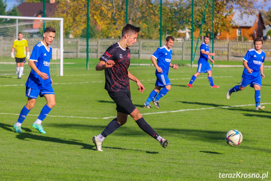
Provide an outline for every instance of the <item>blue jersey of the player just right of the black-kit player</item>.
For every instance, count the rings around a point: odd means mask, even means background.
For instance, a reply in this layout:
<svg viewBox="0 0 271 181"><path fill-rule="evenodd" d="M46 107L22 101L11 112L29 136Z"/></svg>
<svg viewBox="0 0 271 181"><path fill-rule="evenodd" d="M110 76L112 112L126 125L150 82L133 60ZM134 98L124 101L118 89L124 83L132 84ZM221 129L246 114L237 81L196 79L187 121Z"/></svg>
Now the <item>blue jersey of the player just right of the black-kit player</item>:
<svg viewBox="0 0 271 181"><path fill-rule="evenodd" d="M157 50L153 53L155 59L157 59L157 65L163 70L163 74L168 75L169 65L171 62L171 56L172 56L172 50L167 49L164 46L157 48ZM155 75L157 75L159 72L156 70Z"/></svg>

